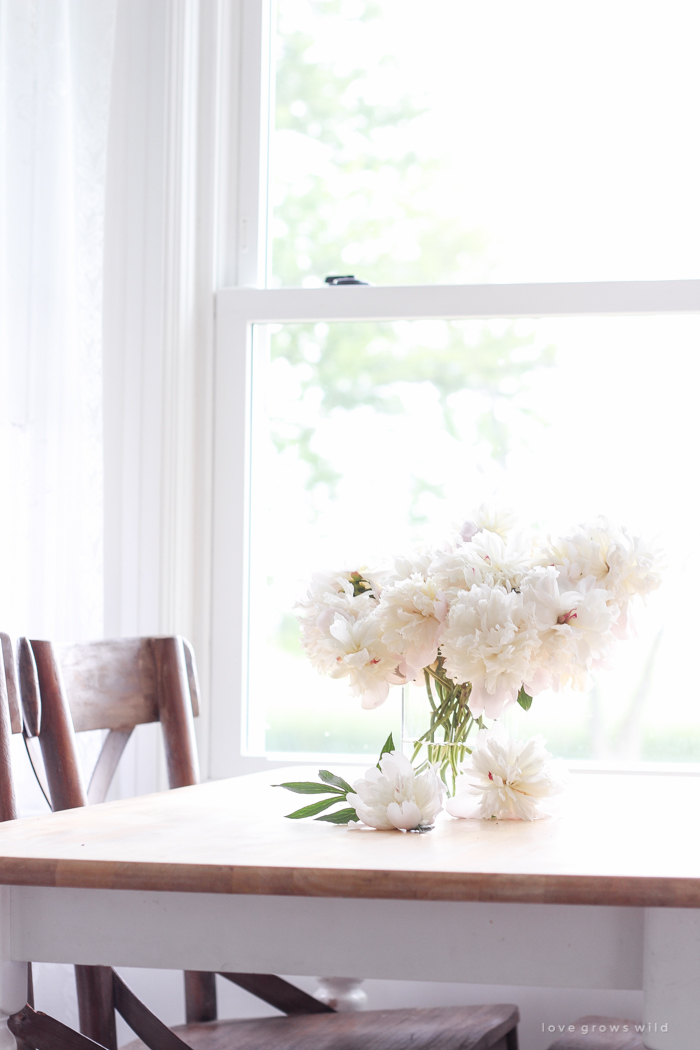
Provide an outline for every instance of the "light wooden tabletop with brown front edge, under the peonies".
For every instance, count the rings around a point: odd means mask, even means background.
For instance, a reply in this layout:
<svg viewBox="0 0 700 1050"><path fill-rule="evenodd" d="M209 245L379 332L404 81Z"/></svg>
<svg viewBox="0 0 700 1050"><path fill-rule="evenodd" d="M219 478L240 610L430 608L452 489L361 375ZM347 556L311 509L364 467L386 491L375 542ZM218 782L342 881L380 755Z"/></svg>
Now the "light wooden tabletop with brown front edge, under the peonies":
<svg viewBox="0 0 700 1050"><path fill-rule="evenodd" d="M412 835L285 820L304 797L270 784L315 773L295 766L0 824L0 883L700 907L700 777L575 774L554 817L442 814Z"/></svg>

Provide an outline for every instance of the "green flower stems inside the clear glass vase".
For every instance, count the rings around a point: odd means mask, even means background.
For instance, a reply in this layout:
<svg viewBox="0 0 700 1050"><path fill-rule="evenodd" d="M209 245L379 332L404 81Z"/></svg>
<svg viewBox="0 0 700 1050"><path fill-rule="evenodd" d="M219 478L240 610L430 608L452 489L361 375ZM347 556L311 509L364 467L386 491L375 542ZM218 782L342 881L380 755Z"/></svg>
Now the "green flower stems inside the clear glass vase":
<svg viewBox="0 0 700 1050"><path fill-rule="evenodd" d="M411 762L422 757L418 772L436 765L445 784L449 775L453 794L460 766L466 755L471 754L467 738L474 726L482 729L483 723L481 718L474 719L469 711L471 685L458 685L447 678L442 657L426 667L424 675L428 728L412 737Z"/></svg>

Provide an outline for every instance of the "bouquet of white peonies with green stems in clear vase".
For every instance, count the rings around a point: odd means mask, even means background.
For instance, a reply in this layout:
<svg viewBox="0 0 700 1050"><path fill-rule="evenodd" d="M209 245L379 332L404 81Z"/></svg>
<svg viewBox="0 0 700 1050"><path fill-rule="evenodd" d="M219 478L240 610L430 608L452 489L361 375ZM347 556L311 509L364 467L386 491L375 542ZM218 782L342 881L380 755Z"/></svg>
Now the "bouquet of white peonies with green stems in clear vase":
<svg viewBox="0 0 700 1050"><path fill-rule="evenodd" d="M363 707L424 682L429 727L412 760L425 747L419 772L434 764L453 786L485 718L528 710L546 689L587 688L660 569L653 548L604 519L538 539L482 507L440 549L391 569L315 574L296 612L314 667L346 677Z"/></svg>

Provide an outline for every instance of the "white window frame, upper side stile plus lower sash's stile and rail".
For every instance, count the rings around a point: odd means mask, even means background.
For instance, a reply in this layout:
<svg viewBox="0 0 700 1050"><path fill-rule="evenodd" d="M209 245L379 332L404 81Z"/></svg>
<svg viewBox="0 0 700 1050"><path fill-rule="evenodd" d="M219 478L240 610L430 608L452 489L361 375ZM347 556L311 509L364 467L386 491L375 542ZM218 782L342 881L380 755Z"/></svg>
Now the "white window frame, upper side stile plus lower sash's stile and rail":
<svg viewBox="0 0 700 1050"><path fill-rule="evenodd" d="M270 0L242 0L241 13L237 284L222 287L216 295L211 640L214 702L210 736L211 775L215 777L270 764L264 756L247 755L254 324L700 313L700 280L266 288ZM300 756L299 761L309 757ZM601 763L581 764L601 768ZM644 763L645 768L651 765ZM690 769L681 763L654 768L667 772Z"/></svg>

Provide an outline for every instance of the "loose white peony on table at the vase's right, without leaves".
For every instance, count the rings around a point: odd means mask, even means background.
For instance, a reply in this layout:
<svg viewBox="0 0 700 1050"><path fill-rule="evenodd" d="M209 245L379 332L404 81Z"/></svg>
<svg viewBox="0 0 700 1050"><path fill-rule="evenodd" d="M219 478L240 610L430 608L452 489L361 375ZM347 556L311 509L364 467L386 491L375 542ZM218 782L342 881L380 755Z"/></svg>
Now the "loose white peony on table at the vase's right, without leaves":
<svg viewBox="0 0 700 1050"><path fill-rule="evenodd" d="M564 786L564 770L551 759L542 736L516 740L503 729L482 730L446 810L453 817L532 820L542 800Z"/></svg>

